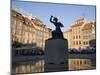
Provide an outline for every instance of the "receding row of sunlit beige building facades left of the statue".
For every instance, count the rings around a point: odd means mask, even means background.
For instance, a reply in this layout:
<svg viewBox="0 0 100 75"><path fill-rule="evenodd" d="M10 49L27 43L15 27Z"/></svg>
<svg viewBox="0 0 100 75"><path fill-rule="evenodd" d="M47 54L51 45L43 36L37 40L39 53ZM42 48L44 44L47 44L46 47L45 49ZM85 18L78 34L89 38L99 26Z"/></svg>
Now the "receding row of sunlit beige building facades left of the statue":
<svg viewBox="0 0 100 75"><path fill-rule="evenodd" d="M14 9L11 13L12 42L34 44L44 48L45 40L51 37L51 29L36 17L22 15Z"/></svg>

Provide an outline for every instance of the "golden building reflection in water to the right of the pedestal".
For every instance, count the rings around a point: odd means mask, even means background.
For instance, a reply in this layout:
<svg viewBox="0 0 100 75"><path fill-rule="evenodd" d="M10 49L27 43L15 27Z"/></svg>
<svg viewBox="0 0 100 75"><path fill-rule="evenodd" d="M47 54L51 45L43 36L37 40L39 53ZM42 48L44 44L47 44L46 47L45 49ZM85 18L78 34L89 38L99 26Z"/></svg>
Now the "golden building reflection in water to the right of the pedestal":
<svg viewBox="0 0 100 75"><path fill-rule="evenodd" d="M90 59L69 59L69 70L86 70L91 68Z"/></svg>

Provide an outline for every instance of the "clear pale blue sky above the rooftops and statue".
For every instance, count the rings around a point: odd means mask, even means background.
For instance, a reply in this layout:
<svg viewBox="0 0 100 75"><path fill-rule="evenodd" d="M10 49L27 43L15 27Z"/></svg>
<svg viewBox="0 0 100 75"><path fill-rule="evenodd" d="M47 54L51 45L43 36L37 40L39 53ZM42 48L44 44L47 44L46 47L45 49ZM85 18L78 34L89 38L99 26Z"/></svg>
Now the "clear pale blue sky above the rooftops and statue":
<svg viewBox="0 0 100 75"><path fill-rule="evenodd" d="M90 5L73 5L58 3L41 3L32 1L12 1L12 9L17 8L24 15L32 14L43 21L51 29L55 26L50 23L50 16L55 16L64 25L62 31L67 31L73 25L75 20L85 17L86 20L96 19L96 7Z"/></svg>

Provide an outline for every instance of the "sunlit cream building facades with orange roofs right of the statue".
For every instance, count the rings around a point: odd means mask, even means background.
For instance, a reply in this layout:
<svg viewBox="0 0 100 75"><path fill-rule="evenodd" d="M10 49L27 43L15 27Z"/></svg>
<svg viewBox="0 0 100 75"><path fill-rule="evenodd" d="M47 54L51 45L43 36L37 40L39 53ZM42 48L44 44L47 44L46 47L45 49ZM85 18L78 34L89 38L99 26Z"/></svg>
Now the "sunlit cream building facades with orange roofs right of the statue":
<svg viewBox="0 0 100 75"><path fill-rule="evenodd" d="M96 39L96 23L95 21L87 22L84 18L80 18L69 30L64 32L64 36L68 39L70 49L86 48L90 46L90 40Z"/></svg>

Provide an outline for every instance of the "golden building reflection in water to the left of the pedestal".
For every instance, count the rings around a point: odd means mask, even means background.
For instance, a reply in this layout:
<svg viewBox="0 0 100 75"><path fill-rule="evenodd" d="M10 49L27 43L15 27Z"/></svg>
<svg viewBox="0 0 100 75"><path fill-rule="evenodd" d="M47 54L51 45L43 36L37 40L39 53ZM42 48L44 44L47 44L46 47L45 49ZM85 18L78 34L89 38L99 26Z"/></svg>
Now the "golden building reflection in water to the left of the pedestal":
<svg viewBox="0 0 100 75"><path fill-rule="evenodd" d="M36 73L44 72L44 60L39 60L36 63L28 63L15 67L16 73Z"/></svg>

